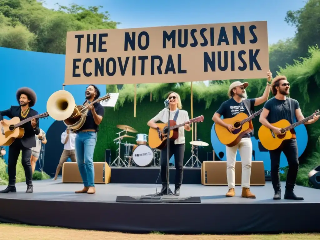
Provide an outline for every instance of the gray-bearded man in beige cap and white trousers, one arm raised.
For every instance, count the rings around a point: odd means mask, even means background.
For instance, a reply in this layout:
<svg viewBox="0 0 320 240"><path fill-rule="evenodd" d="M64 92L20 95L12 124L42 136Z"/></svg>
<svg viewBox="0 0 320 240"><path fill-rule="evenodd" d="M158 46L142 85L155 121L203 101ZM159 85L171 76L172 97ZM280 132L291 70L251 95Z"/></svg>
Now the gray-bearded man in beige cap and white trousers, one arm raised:
<svg viewBox="0 0 320 240"><path fill-rule="evenodd" d="M229 100L223 102L220 108L214 113L212 120L216 124L220 124L226 127L230 132L235 130L235 127L231 124L225 124L221 120L221 116L224 118L231 118L239 113L245 113L250 116L254 113L254 107L258 106L268 100L270 88L271 88L272 73L267 73L267 86L263 95L259 98L247 99L247 93L245 88L248 87L248 83L241 83L239 81L233 82L229 86L228 96ZM242 164L242 197L256 198L250 191L250 177L251 177L251 163L252 163L252 141L251 137L254 136L253 130L250 133L244 134L240 142L233 146L226 146L227 157L227 180L228 180L228 193L227 197L235 196L235 165L236 154L239 149Z"/></svg>

